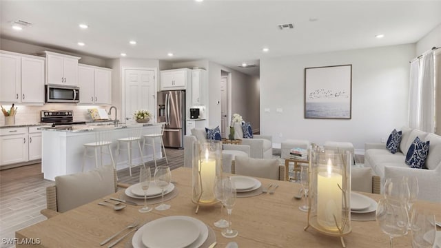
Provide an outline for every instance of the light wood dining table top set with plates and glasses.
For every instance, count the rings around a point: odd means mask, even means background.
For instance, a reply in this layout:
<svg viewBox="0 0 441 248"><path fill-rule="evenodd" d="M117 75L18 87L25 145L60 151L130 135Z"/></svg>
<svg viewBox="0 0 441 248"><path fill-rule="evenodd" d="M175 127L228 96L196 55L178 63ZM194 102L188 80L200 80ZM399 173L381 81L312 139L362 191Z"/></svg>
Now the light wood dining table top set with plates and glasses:
<svg viewBox="0 0 441 248"><path fill-rule="evenodd" d="M76 207L63 214L54 216L41 223L16 231L18 240L39 240L39 245L18 244L17 247L100 247L99 243L112 236L134 220L143 222L155 220L164 216L191 216L201 220L211 227L216 234L216 247L225 247L234 241L239 247L342 247L340 238L320 234L307 225L307 213L298 207L304 204L296 200L300 185L286 181L257 178L263 186L277 184L274 194L237 198L232 211L232 228L238 230L236 238L224 238L222 229L214 227L214 222L220 219L220 203L200 207L195 213L196 205L192 203L192 169L180 167L172 171L172 180L178 189L178 195L167 204L170 209L141 214L141 206L127 205L121 211L111 207L103 207L97 203L105 198L119 197L123 190L94 200L91 203ZM362 193L374 200L382 196ZM418 201L422 206L435 213L441 220L441 203ZM227 218L226 211L224 217ZM376 221L351 221L352 231L345 236L347 247L388 247L389 237L382 233ZM439 228L438 228L439 230ZM173 234L170 234L173 238ZM119 242L115 247L130 246L132 234ZM410 234L394 238L396 247L411 247ZM105 246L103 246L105 247Z"/></svg>

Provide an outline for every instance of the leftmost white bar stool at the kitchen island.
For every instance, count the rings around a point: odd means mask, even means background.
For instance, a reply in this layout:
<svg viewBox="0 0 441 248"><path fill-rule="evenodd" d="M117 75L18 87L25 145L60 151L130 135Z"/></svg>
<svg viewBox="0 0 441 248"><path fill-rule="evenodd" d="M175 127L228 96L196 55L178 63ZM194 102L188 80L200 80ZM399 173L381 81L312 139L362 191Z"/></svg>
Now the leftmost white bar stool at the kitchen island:
<svg viewBox="0 0 441 248"><path fill-rule="evenodd" d="M116 169L115 161L113 159L112 155L112 149L110 146L112 145L112 133L109 130L101 130L101 131L95 131L95 142L92 143L85 143L84 146L84 153L83 153L83 165L81 166L81 172L84 172L84 165L85 165L85 158L86 157L95 157L95 167L98 168L98 150L100 154L100 165L103 166L103 154L110 155L110 160L112 160L112 165ZM106 153L103 151L103 147L107 147L107 150L109 151ZM92 148L94 149L93 154L88 154L88 149Z"/></svg>

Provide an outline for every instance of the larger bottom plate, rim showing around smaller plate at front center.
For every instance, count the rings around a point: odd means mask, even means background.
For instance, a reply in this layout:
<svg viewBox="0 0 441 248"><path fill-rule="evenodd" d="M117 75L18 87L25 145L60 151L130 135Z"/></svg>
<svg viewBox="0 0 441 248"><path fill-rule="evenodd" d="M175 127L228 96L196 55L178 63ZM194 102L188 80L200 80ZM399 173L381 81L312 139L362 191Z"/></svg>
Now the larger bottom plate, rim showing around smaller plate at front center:
<svg viewBox="0 0 441 248"><path fill-rule="evenodd" d="M208 227L201 220L198 220L196 218L192 218L192 217L189 217L189 216L168 216L168 217L163 217L163 218L174 218L174 219L191 220L192 222L194 222L198 226L199 232L200 232L198 238L196 239L196 241L194 241L191 245L187 246L186 248L198 248L201 245L203 245L205 240L207 240L207 238L208 238ZM146 225L148 225L148 224L149 223L147 223ZM133 235L133 238L132 238L132 246L133 246L133 248L146 248L145 245L143 244L143 240L142 240L143 232L144 232L144 230L146 228L145 227L146 225L143 225L143 227L141 227ZM170 234L169 234L169 237L170 237Z"/></svg>

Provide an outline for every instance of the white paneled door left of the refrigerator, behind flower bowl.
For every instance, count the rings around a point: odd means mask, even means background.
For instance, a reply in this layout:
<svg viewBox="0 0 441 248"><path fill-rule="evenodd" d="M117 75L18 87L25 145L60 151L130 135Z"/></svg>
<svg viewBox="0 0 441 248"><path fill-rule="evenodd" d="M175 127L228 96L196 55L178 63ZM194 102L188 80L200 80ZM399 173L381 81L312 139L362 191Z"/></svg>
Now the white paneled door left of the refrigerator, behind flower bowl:
<svg viewBox="0 0 441 248"><path fill-rule="evenodd" d="M154 70L125 70L125 120L133 119L136 110L148 110L153 120L156 109Z"/></svg>

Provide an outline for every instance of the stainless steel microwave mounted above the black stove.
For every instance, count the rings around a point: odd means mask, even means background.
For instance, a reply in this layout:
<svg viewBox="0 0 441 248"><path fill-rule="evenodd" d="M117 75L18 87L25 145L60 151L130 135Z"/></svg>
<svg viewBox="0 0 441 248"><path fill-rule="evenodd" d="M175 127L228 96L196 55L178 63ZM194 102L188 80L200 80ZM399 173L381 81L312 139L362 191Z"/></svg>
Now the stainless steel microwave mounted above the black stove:
<svg viewBox="0 0 441 248"><path fill-rule="evenodd" d="M45 86L46 103L79 103L80 87L73 85L51 85Z"/></svg>

